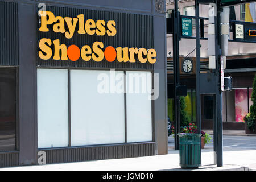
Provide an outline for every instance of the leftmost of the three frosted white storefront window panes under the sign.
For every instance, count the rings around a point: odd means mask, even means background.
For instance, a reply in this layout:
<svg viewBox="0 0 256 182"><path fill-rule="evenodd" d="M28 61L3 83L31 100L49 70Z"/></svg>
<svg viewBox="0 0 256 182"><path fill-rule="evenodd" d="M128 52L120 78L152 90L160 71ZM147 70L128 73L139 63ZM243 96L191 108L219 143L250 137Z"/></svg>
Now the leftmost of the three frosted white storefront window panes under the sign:
<svg viewBox="0 0 256 182"><path fill-rule="evenodd" d="M38 69L38 148L68 146L68 70Z"/></svg>

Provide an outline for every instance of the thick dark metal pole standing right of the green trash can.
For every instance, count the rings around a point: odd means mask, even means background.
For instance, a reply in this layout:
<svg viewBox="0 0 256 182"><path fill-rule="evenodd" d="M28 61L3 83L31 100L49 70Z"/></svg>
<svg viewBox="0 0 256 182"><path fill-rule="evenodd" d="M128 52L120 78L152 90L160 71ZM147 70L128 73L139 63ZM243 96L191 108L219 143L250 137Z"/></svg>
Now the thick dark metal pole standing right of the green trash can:
<svg viewBox="0 0 256 182"><path fill-rule="evenodd" d="M216 163L217 167L223 166L223 141L222 141L222 91L221 91L221 63L220 63L220 55L221 55L221 47L220 47L220 0L216 0L217 6L217 16L215 20L215 51L216 51L216 123L214 123L214 146L216 150Z"/></svg>

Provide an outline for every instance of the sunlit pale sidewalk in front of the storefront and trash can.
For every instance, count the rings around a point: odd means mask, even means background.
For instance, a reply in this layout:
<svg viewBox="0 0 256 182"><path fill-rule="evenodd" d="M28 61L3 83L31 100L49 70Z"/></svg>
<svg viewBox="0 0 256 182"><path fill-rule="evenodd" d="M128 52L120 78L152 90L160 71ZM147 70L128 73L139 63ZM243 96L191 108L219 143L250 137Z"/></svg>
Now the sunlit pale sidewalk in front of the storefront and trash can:
<svg viewBox="0 0 256 182"><path fill-rule="evenodd" d="M224 166L213 165L213 151L202 150L202 166L195 171L256 171L256 150L224 151ZM146 156L141 158L95 160L64 164L47 164L41 166L23 166L1 168L0 170L32 171L180 171L179 151L170 150L167 155ZM188 170L188 169L187 169ZM191 169L189 169L191 170Z"/></svg>

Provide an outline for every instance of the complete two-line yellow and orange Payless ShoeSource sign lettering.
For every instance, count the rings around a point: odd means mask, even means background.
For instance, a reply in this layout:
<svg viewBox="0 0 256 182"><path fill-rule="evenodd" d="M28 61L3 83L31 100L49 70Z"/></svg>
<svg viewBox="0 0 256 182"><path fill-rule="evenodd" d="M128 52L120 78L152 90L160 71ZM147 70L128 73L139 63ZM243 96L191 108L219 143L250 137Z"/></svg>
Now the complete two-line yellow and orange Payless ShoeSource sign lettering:
<svg viewBox="0 0 256 182"><path fill-rule="evenodd" d="M85 20L84 14L79 14L76 18L55 17L51 11L39 11L39 14L41 15L39 31L48 32L49 27L51 27L53 32L64 34L67 39L71 39L75 32L89 36L115 36L117 34L115 28L117 24L114 20L108 22L105 20ZM53 49L51 48L52 44ZM52 58L53 60L77 61L81 57L84 61L100 62L105 58L109 62L117 60L118 62L135 63L136 58L138 58L140 63L148 61L154 64L156 62L156 51L152 48L105 47L103 42L98 41L93 42L92 46L84 45L79 48L73 44L67 47L67 45L61 44L59 39L51 40L49 38L40 39L38 46L40 49L38 56L43 60Z"/></svg>

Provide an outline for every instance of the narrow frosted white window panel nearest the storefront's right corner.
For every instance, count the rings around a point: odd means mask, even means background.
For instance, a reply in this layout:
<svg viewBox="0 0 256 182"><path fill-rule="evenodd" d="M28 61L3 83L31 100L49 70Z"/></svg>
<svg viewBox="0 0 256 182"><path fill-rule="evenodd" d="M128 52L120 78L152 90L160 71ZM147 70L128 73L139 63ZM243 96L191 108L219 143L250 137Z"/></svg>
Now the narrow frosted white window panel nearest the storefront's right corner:
<svg viewBox="0 0 256 182"><path fill-rule="evenodd" d="M150 73L126 72L127 142L152 141Z"/></svg>

